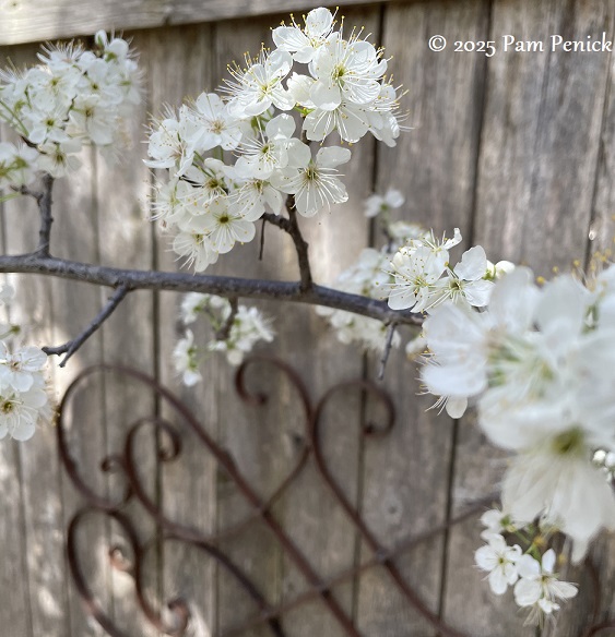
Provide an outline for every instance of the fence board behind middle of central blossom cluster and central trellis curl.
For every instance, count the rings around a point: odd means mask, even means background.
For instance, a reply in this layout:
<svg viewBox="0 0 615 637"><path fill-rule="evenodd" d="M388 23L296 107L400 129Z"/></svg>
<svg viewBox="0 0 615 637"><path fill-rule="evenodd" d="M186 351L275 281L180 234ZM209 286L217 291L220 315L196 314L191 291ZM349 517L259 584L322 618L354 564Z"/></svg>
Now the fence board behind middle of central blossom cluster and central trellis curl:
<svg viewBox="0 0 615 637"><path fill-rule="evenodd" d="M277 22L277 21L275 21ZM215 70L216 85L223 79L229 79L226 71L227 64L236 61L245 67L244 56L249 52L252 58L259 55L261 43L269 40L269 26L273 24L268 20L240 20L217 24L215 34ZM212 86L216 88L216 86ZM269 241L275 228L268 229L265 250L271 255L272 244ZM236 247L233 254L221 256L218 263L212 268L216 274L235 274L238 276L267 277L267 265L257 261L258 239L244 247ZM279 245L279 243L274 243ZM275 265L287 265L280 257L275 259ZM271 266L271 265L270 265ZM279 269L277 272L284 272ZM240 300L240 303L250 304ZM267 313L269 308L261 305ZM280 326L276 324L276 329ZM284 435L285 423L276 418L275 409L284 389L277 385L282 383L267 383L269 400L274 405L273 412L263 410L246 410L235 397L233 387L233 370L226 361L218 357L212 361L217 370L216 400L220 406L218 440L224 448L235 458L241 472L248 478L250 485L257 490L261 497L267 497L281 480L281 476L287 464L287 456L283 453L280 443ZM212 368L210 370L213 371ZM211 372L210 372L211 373ZM267 373L267 371L265 371ZM271 372L273 377L279 377ZM286 388L286 390L288 390ZM265 460L265 458L268 458ZM233 522L253 513L253 508L238 495L235 486L227 482L227 477L218 472L217 477L217 528L218 531L228 528ZM229 556L240 565L259 589L260 593L270 604L280 601L281 596L281 550L275 539L264 525L250 527L247 533L237 537L236 540L225 542L223 548ZM245 596L238 594L238 588L230 581L224 570L218 570L217 580L217 629L235 626L241 621L255 614L255 605ZM262 636L269 634L264 626L247 632L249 636Z"/></svg>

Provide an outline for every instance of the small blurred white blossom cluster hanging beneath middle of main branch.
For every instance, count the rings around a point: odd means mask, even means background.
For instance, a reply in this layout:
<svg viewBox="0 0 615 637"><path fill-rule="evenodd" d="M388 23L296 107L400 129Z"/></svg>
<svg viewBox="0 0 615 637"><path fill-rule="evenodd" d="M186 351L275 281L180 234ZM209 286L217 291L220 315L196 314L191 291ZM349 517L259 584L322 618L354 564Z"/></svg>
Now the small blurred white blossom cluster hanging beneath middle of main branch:
<svg viewBox="0 0 615 637"><path fill-rule="evenodd" d="M185 336L178 340L173 360L176 372L187 386L196 385L202 380L199 366L208 352L223 351L232 365L238 365L259 340L273 340L270 321L257 308L239 305L233 312L230 303L222 297L190 292L181 303L185 325L194 323L199 315L209 321L216 337L204 347L199 347L194 344L192 330L187 329ZM230 326L221 337L220 334L224 332L228 321Z"/></svg>

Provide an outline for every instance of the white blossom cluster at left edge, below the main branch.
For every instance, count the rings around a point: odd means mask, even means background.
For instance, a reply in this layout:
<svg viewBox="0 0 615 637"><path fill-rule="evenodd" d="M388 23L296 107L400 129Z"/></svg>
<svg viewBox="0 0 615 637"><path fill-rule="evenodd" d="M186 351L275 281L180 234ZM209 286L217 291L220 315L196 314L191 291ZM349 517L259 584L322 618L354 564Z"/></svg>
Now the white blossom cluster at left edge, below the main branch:
<svg viewBox="0 0 615 637"><path fill-rule="evenodd" d="M0 291L0 304L8 314L14 296L10 286ZM0 438L26 441L36 424L50 416L43 368L47 356L37 347L22 344L22 329L9 321L0 323Z"/></svg>

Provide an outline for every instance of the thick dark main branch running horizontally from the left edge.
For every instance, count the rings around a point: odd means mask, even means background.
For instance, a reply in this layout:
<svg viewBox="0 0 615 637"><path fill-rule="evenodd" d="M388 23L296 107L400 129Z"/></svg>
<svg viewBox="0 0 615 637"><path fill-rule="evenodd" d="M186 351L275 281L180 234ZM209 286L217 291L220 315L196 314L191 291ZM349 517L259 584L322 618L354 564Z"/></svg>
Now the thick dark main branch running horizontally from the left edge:
<svg viewBox="0 0 615 637"><path fill-rule="evenodd" d="M120 269L67 261L54 256L39 256L37 253L0 256L0 273L42 274L113 288L126 286L129 291L140 289L173 290L176 292L205 292L226 299L237 297L291 301L310 305L324 305L334 310L345 310L362 316L377 318L387 324L391 323L391 321L394 321L398 325L423 324L421 314L391 310L387 303L376 299L348 295L317 285L304 290L299 283L291 281Z"/></svg>

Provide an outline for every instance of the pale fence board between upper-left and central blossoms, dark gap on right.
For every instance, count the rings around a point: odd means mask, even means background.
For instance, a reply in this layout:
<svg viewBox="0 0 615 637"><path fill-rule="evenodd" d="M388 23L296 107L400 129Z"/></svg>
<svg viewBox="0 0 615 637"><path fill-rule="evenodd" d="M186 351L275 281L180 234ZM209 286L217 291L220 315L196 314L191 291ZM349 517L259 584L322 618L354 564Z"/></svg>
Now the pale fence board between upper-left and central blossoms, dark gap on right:
<svg viewBox="0 0 615 637"><path fill-rule="evenodd" d="M141 63L147 64L149 34L135 34L132 47L142 51ZM143 164L146 154L144 123L150 112L147 96L137 109L132 121L128 122L123 141L127 147L115 163L96 157L96 202L98 214L99 261L105 265L151 269L154 267L152 225L149 221L150 194L149 170ZM105 291L105 298L110 291ZM156 370L157 328L154 316L153 293L138 291L129 295L102 329L103 360L135 368L154 375ZM107 453L121 453L128 428L139 418L155 413L154 396L142 384L125 376L107 374L104 378L105 418L107 422ZM155 494L157 485L156 436L153 430L143 431L139 436L139 474L149 493ZM123 484L119 482L118 488ZM154 521L142 515L135 498L125 509L142 542L151 539ZM110 545L126 544L123 533L117 533L111 526ZM159 568L157 553L150 551L145 563L145 590L151 599L158 594ZM129 635L157 635L135 610L133 582L130 575L111 572L114 617Z"/></svg>

